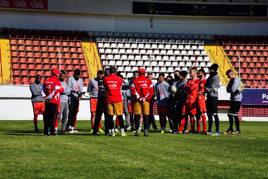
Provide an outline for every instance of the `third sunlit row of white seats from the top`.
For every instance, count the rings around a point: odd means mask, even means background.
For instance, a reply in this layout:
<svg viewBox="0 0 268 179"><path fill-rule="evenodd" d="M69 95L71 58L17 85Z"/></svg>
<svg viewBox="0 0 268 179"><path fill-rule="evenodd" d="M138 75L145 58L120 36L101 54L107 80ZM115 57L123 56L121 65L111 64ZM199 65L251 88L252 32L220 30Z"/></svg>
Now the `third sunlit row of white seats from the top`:
<svg viewBox="0 0 268 179"><path fill-rule="evenodd" d="M181 52L179 50L175 50L173 52L173 50L138 50L138 49L135 49L135 50L132 50L132 49L99 49L99 53L106 53L106 54L155 54L155 55L183 55L183 56L207 56L207 52L202 50L201 53L200 51L196 50L195 52L193 52L193 50L189 50L188 52L186 50L182 50Z"/></svg>

